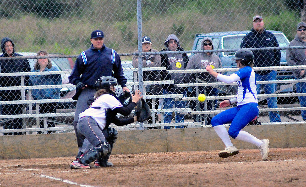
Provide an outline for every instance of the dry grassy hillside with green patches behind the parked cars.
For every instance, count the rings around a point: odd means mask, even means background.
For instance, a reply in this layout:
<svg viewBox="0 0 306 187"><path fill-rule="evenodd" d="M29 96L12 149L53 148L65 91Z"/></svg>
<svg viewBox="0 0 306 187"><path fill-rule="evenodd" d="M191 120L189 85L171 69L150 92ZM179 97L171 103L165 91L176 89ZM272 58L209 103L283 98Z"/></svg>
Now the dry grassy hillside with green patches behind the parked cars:
<svg viewBox="0 0 306 187"><path fill-rule="evenodd" d="M268 0L158 0L143 2L143 35L152 39L153 48L161 50L166 37L178 35L181 46L192 47L196 33L249 30L252 17L263 16L267 29L280 30L293 39L299 14L281 2ZM85 2L84 2L85 4ZM92 0L71 14L42 18L34 13L2 17L2 38L13 39L17 51L78 54L90 45L92 30L101 29L107 46L118 52L137 49L136 1Z"/></svg>

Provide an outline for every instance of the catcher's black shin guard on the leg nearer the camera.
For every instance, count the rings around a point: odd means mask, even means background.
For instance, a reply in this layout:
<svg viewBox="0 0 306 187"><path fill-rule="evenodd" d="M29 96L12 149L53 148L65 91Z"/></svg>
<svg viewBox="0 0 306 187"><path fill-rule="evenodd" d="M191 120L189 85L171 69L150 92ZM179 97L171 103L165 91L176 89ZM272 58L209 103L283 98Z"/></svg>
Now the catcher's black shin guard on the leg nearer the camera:
<svg viewBox="0 0 306 187"><path fill-rule="evenodd" d="M98 147L89 149L81 155L79 161L80 163L90 164L93 161L106 156L110 152L110 145L107 141L103 141Z"/></svg>

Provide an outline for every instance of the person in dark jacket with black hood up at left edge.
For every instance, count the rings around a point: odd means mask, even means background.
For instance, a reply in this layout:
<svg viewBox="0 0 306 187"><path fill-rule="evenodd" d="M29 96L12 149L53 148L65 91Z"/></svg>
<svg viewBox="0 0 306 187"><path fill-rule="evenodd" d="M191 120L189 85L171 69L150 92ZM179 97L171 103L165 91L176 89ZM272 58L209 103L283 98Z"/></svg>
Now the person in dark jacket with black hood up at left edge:
<svg viewBox="0 0 306 187"><path fill-rule="evenodd" d="M1 40L2 55L0 57L20 57L22 55L15 53L14 42L8 37ZM7 59L0 60L1 73L13 72L29 72L31 71L27 59ZM21 76L2 76L0 77L0 85L3 86L21 86ZM24 85L29 85L29 76L24 77ZM2 90L0 92L1 101L18 101L22 100L22 92L24 90ZM25 92L23 93L25 95ZM8 104L2 105L1 115L16 115L22 114L23 104ZM22 118L14 118L3 123L3 129L21 129ZM22 132L3 133L3 135L24 134Z"/></svg>

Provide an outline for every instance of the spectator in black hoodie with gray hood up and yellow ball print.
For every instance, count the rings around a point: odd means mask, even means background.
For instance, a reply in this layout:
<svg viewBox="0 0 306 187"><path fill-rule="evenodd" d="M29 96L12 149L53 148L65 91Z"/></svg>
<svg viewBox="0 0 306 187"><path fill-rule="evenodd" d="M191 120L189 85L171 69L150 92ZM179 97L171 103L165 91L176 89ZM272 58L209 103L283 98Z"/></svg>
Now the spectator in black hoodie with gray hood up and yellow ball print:
<svg viewBox="0 0 306 187"><path fill-rule="evenodd" d="M184 51L180 46L180 41L176 35L170 34L164 42L166 49L161 51ZM171 53L161 54L162 66L166 70L185 70L188 63L188 56L186 53ZM186 83L184 73L167 73L162 72L162 80L174 80L174 84ZM185 88L175 87L173 84L165 85L163 87L163 94L183 94L186 96ZM184 108L185 101L174 101L172 98L164 99L164 108ZM164 123L171 123L172 112L164 113ZM184 114L175 112L175 123L184 122ZM166 128L169 128L166 127ZM184 126L175 126L174 128L184 128Z"/></svg>

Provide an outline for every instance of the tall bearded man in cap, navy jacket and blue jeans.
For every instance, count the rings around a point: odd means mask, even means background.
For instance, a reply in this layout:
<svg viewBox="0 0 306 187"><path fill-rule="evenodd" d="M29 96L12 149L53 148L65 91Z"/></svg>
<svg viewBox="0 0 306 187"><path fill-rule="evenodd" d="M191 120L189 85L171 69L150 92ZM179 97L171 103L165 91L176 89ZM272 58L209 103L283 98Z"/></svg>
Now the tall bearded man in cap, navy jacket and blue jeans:
<svg viewBox="0 0 306 187"><path fill-rule="evenodd" d="M279 47L276 37L264 28L263 17L253 17L253 28L244 36L240 48L255 47ZM254 67L280 66L280 50L255 50ZM257 81L276 80L276 71L256 71ZM257 94L260 93L261 84L257 84ZM276 83L263 84L266 94L273 94L276 90ZM277 108L276 97L267 98L269 108ZM270 122L281 122L278 112L269 112Z"/></svg>

